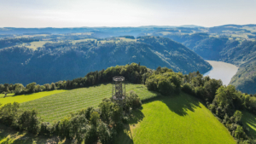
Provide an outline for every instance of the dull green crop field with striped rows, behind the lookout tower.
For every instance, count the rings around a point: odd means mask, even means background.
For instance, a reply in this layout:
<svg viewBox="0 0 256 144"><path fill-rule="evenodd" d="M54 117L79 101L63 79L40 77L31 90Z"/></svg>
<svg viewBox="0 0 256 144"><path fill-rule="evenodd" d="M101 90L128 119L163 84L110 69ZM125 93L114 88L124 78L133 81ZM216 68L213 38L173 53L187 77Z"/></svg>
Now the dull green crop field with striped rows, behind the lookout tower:
<svg viewBox="0 0 256 144"><path fill-rule="evenodd" d="M158 95L150 92L143 84L126 84L126 92L133 90L141 98L148 98ZM89 88L72 89L66 92L49 95L34 101L27 101L20 105L23 109L36 108L38 114L45 122L61 120L69 112L77 112L86 107L97 107L103 98L112 95L112 84L100 84Z"/></svg>

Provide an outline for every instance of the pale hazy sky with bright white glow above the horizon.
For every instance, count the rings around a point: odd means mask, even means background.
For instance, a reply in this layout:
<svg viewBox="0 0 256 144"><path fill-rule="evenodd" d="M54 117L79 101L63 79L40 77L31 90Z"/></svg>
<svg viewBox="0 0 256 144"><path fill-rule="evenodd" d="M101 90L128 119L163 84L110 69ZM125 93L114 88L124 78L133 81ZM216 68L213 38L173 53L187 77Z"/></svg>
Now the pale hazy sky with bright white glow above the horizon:
<svg viewBox="0 0 256 144"><path fill-rule="evenodd" d="M256 24L256 0L0 0L0 27Z"/></svg>

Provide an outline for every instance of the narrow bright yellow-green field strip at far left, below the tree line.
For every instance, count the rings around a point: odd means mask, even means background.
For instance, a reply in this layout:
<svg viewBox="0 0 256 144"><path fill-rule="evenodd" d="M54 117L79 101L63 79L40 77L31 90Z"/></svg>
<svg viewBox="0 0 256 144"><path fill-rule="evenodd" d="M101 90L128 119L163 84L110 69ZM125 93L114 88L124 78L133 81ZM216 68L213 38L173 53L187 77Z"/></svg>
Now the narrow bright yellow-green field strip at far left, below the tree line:
<svg viewBox="0 0 256 144"><path fill-rule="evenodd" d="M26 102L26 101L36 100L36 99L42 98L44 96L54 95L54 94L61 93L64 91L67 91L67 90L43 91L43 92L39 92L39 93L33 93L30 95L17 95L17 96L14 95L14 96L8 96L5 98L3 98L1 96L2 95L1 94L0 95L0 103L2 103L3 105L7 104L7 103L13 103L15 101L22 103L22 102ZM10 95L13 95L13 94L10 94Z"/></svg>

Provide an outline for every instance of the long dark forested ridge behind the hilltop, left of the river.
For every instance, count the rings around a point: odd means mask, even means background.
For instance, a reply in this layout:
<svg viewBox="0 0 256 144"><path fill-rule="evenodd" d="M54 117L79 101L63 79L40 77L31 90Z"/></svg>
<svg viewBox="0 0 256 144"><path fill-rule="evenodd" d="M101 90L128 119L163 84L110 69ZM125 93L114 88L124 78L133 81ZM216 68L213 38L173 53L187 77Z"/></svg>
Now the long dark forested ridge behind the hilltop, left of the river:
<svg viewBox="0 0 256 144"><path fill-rule="evenodd" d="M139 37L133 42L113 39L46 43L37 50L15 46L0 49L0 84L47 84L131 62L152 69L166 66L183 73L211 69L201 56L169 38Z"/></svg>

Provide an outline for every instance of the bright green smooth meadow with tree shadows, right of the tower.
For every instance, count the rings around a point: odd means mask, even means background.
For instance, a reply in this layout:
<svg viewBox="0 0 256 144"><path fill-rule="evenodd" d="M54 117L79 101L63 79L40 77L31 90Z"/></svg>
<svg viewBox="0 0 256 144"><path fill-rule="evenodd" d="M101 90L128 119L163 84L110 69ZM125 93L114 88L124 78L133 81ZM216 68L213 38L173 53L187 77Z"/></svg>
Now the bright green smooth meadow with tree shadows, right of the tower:
<svg viewBox="0 0 256 144"><path fill-rule="evenodd" d="M145 101L133 114L137 119L116 143L236 143L207 107L184 93Z"/></svg>

